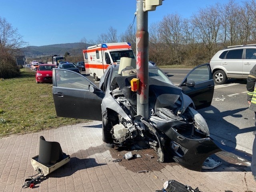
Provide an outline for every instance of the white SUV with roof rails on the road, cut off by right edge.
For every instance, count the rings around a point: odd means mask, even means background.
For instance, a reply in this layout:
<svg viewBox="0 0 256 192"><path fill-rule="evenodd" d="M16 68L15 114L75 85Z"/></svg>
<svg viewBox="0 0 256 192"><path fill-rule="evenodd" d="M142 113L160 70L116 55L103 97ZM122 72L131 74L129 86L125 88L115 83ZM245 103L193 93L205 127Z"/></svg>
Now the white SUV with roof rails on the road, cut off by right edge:
<svg viewBox="0 0 256 192"><path fill-rule="evenodd" d="M210 60L216 84L224 84L228 78L246 79L255 64L256 44L228 46Z"/></svg>

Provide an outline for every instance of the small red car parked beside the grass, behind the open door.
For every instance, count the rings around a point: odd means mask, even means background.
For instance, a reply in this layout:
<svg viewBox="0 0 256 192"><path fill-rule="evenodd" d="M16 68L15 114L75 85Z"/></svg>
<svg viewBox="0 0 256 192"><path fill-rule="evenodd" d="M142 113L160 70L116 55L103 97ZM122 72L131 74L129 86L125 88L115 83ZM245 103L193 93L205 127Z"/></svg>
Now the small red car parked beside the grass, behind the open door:
<svg viewBox="0 0 256 192"><path fill-rule="evenodd" d="M52 69L56 68L53 64L40 64L36 71L36 83L52 82Z"/></svg>

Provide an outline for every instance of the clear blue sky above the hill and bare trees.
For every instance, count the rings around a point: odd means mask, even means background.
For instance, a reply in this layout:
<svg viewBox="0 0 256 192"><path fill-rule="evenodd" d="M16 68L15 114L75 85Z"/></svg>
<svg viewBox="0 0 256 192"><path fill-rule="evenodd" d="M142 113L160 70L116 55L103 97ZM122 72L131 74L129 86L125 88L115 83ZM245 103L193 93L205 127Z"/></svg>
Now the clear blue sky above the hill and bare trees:
<svg viewBox="0 0 256 192"><path fill-rule="evenodd" d="M198 8L217 2L228 0L164 0L148 13L148 26L168 14L190 18ZM0 5L0 17L17 28L30 46L80 42L83 37L96 40L110 26L121 34L136 12L136 0L0 0Z"/></svg>

